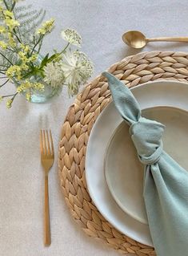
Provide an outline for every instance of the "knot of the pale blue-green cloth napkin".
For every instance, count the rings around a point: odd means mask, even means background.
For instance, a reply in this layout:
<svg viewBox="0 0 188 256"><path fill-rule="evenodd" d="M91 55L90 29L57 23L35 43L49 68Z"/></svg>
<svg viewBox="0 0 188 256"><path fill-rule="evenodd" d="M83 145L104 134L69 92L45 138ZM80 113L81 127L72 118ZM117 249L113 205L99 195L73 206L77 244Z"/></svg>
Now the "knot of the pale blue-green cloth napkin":
<svg viewBox="0 0 188 256"><path fill-rule="evenodd" d="M163 124L144 117L130 125L130 135L142 164L152 165L160 159L163 131Z"/></svg>

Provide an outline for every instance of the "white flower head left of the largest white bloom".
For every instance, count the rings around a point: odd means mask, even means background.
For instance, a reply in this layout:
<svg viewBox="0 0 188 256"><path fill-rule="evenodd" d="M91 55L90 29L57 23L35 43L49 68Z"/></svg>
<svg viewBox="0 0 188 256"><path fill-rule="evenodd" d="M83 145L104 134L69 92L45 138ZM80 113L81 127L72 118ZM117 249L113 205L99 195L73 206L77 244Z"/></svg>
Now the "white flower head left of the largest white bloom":
<svg viewBox="0 0 188 256"><path fill-rule="evenodd" d="M59 63L47 63L44 67L44 81L52 87L58 87L64 82L64 75Z"/></svg>

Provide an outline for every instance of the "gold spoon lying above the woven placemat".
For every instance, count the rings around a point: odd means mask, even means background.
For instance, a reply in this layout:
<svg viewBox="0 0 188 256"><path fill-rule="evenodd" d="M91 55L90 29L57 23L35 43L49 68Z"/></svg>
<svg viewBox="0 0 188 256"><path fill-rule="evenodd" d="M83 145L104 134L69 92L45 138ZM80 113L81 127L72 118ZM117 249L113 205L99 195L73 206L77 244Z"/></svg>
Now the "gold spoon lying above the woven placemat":
<svg viewBox="0 0 188 256"><path fill-rule="evenodd" d="M145 47L146 43L154 41L188 42L188 37L146 39L146 36L143 35L140 31L131 30L122 35L122 40L128 46L139 49Z"/></svg>

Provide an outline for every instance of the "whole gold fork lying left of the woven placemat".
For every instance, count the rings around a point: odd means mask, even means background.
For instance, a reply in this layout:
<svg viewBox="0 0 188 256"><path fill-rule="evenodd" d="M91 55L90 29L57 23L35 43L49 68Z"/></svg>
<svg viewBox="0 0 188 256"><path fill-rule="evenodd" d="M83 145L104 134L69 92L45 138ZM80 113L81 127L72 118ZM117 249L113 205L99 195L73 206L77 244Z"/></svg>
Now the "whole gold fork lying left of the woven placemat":
<svg viewBox="0 0 188 256"><path fill-rule="evenodd" d="M54 145L51 130L40 133L41 163L45 171L45 211L44 211L44 244L50 246L50 207L48 193L48 173L54 164Z"/></svg>

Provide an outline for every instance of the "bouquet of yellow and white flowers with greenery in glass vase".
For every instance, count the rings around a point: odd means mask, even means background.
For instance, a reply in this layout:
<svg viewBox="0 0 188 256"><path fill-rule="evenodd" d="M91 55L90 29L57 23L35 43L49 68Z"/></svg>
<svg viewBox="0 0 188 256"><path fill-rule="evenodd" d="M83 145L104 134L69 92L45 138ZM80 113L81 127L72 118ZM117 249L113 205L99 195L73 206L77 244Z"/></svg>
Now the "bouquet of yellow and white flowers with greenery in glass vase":
<svg viewBox="0 0 188 256"><path fill-rule="evenodd" d="M18 2L0 0L0 87L9 82L16 85L14 93L0 95L0 101L6 98L10 108L20 93L32 102L36 91L40 95L50 90L54 95L62 85L67 86L69 95L77 94L93 71L93 63L78 49L81 36L73 29L62 30L65 47L42 57L42 42L54 29L54 18L42 23L45 10L17 6Z"/></svg>

